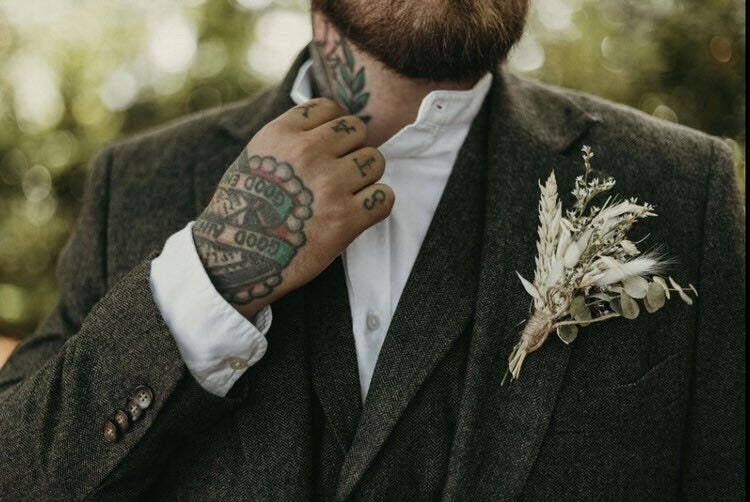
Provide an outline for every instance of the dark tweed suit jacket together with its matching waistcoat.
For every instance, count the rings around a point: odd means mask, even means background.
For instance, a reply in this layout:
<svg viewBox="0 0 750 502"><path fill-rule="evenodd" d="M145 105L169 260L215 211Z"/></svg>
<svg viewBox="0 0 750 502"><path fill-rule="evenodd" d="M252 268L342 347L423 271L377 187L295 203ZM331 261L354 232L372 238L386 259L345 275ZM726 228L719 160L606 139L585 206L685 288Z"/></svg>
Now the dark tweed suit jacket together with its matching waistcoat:
<svg viewBox="0 0 750 502"><path fill-rule="evenodd" d="M744 210L729 151L503 70L364 405L340 262L274 304L268 352L227 398L203 391L154 304L150 259L292 106L296 71L99 155L59 305L0 370L0 499L744 499ZM516 271L533 272L537 182L554 168L571 187L582 144L617 193L656 205L642 235L700 297L550 339L501 386L528 309ZM104 422L141 384L153 405L110 444Z"/></svg>

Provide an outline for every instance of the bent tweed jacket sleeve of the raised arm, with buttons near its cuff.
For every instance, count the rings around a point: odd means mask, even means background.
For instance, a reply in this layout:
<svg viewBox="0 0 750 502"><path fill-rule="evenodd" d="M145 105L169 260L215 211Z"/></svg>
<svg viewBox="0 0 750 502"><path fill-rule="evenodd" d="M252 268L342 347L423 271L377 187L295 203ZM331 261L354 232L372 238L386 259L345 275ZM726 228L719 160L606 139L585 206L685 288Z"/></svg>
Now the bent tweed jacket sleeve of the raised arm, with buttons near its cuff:
<svg viewBox="0 0 750 502"><path fill-rule="evenodd" d="M243 398L242 386L214 396L186 371L152 297L150 259L107 284L110 159L94 162L58 305L0 370L3 499L137 498L177 445ZM109 442L105 423L139 386L152 402Z"/></svg>

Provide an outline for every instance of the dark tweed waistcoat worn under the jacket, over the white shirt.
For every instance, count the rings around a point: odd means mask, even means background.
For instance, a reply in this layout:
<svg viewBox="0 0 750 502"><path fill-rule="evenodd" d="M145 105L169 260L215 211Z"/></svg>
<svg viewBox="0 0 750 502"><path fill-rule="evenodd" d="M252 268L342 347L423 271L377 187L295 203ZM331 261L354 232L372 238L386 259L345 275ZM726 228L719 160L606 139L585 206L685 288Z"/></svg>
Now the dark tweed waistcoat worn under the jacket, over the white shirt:
<svg viewBox="0 0 750 502"><path fill-rule="evenodd" d="M342 260L336 259L305 288L304 332L314 393L311 410L316 500L336 498L339 483L348 475L342 471L345 460L358 455L352 450L360 446L353 445L355 437L366 437L374 432L370 427L377 428L383 395L401 392L405 382L398 380L400 372L394 360L409 355L404 351L415 348L415 338L429 337L431 324L451 316L451 297L460 294L463 301L475 300L484 227L486 115L484 106L455 162L396 308L364 406ZM459 273L464 287L445 284L446 274L439 273L444 268L453 269L451 276ZM363 476L361 488L354 491L354 498L401 498L409 490L421 498L440 496L461 401L471 313L469 318L455 321L455 329L461 334L396 423ZM419 350L416 347L409 357L420 357ZM370 420L363 420L363 412ZM384 472L390 474L382 476Z"/></svg>

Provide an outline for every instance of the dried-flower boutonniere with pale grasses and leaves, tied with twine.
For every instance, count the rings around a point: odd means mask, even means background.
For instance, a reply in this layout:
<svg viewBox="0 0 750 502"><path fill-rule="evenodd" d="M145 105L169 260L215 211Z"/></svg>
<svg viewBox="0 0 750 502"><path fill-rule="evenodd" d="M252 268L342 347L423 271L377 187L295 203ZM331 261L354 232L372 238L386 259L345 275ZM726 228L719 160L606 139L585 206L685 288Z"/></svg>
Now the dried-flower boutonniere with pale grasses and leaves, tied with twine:
<svg viewBox="0 0 750 502"><path fill-rule="evenodd" d="M516 272L533 304L508 358L506 378L509 374L511 380L518 379L526 357L551 333L570 344L579 326L616 317L635 319L642 311L641 304L646 312L656 312L673 292L689 305L693 300L688 292L698 295L692 284L682 288L671 277L665 280L662 274L667 261L655 252L642 254L639 243L627 238L638 220L656 216L651 204L613 196L601 206L591 204L595 197L612 190L615 180L589 179L594 153L589 146L582 152L585 174L576 178L572 209L563 214L554 171L544 186L539 185L533 283Z"/></svg>

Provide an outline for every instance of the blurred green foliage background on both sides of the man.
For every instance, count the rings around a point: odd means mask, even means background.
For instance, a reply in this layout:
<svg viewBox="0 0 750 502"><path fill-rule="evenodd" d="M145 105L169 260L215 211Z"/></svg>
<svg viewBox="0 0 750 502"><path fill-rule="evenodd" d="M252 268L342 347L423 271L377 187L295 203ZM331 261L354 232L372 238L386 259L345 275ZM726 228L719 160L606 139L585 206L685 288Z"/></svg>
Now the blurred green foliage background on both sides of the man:
<svg viewBox="0 0 750 502"><path fill-rule="evenodd" d="M270 84L309 36L297 29L307 8L306 0L0 0L0 334L31 332L52 307L55 262L94 153ZM510 64L725 138L744 186L744 8L741 0L536 0Z"/></svg>

